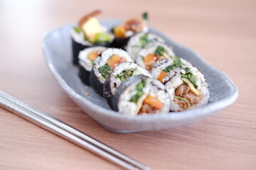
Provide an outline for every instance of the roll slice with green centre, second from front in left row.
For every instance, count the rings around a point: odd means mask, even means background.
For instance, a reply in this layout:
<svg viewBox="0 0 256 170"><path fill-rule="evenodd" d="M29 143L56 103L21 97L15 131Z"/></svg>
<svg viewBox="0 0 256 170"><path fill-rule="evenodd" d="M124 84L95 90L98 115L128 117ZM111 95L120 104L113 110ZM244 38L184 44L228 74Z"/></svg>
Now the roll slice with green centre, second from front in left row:
<svg viewBox="0 0 256 170"><path fill-rule="evenodd" d="M134 62L122 62L120 64L117 64L116 67L114 67L112 73L107 78L107 81L105 81L103 94L111 108L112 98L116 93L117 88L122 83L122 81L138 74L142 74L146 77L153 78L149 71L147 71L144 67Z"/></svg>

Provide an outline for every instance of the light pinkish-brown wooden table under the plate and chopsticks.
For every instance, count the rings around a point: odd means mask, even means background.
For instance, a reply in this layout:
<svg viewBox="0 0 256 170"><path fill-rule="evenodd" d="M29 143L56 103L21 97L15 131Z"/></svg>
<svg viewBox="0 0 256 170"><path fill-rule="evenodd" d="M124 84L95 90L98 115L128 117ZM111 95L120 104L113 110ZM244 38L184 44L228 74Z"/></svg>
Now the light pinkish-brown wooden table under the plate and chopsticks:
<svg viewBox="0 0 256 170"><path fill-rule="evenodd" d="M43 59L43 35L100 8L148 11L150 24L199 52L238 86L224 111L169 130L116 134L83 113ZM151 169L256 169L256 1L0 1L0 89ZM0 169L119 169L0 108Z"/></svg>

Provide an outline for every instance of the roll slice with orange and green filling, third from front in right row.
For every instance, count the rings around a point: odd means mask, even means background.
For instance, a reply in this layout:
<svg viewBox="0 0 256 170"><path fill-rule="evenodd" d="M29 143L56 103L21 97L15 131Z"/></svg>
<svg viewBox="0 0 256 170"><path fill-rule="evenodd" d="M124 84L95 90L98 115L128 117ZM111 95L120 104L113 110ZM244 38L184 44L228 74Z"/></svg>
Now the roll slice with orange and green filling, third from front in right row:
<svg viewBox="0 0 256 170"><path fill-rule="evenodd" d="M171 47L161 42L152 42L137 53L135 62L151 71L151 68L158 60L173 57L174 52Z"/></svg>

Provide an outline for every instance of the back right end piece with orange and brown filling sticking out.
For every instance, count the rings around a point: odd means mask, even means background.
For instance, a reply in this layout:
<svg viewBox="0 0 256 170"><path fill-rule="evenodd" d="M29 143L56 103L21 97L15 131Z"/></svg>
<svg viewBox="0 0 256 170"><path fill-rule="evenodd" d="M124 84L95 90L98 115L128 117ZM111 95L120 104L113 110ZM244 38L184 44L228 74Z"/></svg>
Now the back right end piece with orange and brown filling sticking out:
<svg viewBox="0 0 256 170"><path fill-rule="evenodd" d="M115 26L113 28L114 47L124 49L132 35L140 32L147 33L149 31L147 23L147 13L143 13L142 18L129 18L121 25Z"/></svg>

